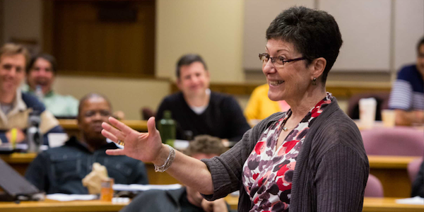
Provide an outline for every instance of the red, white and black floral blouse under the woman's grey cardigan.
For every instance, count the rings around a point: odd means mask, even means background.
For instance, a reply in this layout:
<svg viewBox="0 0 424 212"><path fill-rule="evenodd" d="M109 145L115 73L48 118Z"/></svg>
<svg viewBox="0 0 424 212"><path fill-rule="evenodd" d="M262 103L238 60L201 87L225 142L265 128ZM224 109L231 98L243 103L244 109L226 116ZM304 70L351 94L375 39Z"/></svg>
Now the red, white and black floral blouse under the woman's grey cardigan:
<svg viewBox="0 0 424 212"><path fill-rule="evenodd" d="M278 136L291 110L259 137L245 165L242 182L254 206L253 211L288 211L296 158L314 118L331 103L331 93L318 102L276 148Z"/></svg>

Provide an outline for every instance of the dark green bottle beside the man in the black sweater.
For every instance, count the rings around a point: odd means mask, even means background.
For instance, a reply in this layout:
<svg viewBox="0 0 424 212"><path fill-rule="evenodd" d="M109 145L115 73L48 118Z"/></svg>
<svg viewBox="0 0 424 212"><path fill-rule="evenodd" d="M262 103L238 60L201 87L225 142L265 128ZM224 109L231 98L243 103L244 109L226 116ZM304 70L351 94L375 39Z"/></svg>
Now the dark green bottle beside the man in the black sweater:
<svg viewBox="0 0 424 212"><path fill-rule="evenodd" d="M173 146L175 140L175 120L169 110L163 112L163 119L159 120L158 129L163 143Z"/></svg>

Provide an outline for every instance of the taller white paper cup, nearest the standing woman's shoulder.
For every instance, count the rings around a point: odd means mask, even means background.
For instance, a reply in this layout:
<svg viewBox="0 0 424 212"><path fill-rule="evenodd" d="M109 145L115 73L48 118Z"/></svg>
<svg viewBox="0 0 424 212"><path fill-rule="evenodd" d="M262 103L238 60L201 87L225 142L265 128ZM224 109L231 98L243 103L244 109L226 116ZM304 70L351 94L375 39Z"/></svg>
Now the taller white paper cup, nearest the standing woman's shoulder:
<svg viewBox="0 0 424 212"><path fill-rule="evenodd" d="M359 119L363 129L371 129L374 126L376 108L377 100L375 98L359 100Z"/></svg>

